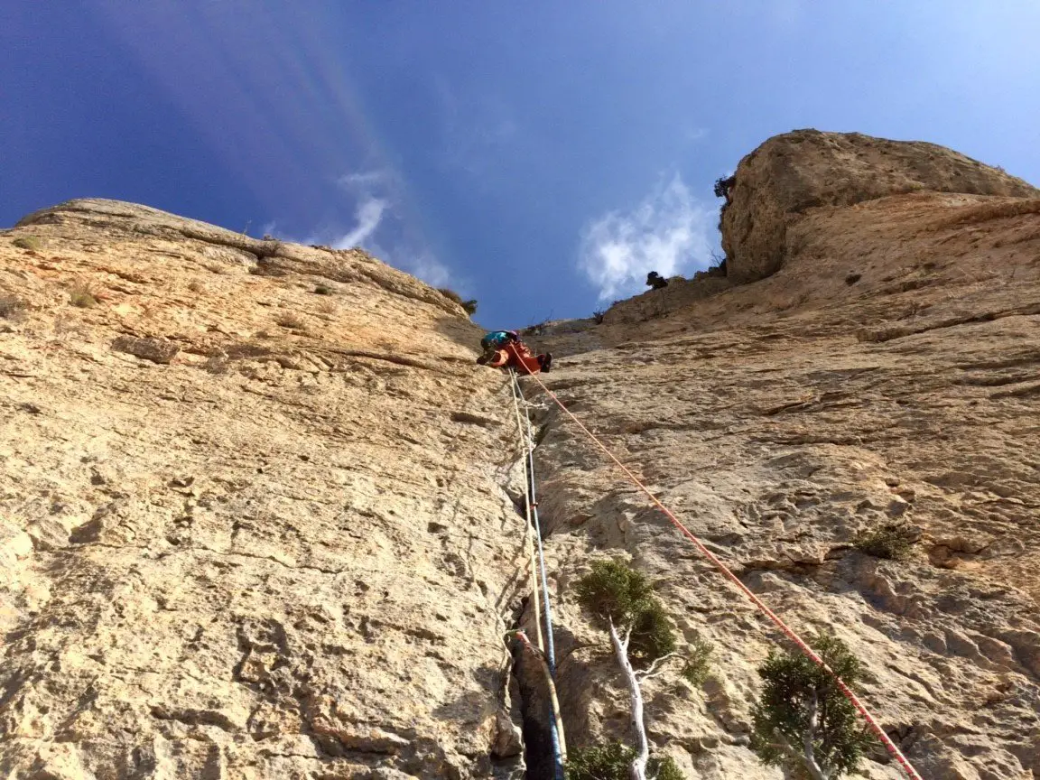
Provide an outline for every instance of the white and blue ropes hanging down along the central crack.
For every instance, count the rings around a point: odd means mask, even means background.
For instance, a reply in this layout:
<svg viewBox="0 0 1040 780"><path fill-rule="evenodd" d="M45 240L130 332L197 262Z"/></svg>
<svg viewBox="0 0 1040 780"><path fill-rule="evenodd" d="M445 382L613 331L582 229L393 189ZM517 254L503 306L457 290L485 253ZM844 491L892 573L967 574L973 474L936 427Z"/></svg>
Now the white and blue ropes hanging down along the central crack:
<svg viewBox="0 0 1040 780"><path fill-rule="evenodd" d="M556 780L564 780L564 763L567 761L567 742L564 736L563 731L563 719L560 717L560 702L556 699L556 654L555 647L552 641L552 606L549 603L549 578L545 571L545 550L542 547L542 524L538 517L538 498L535 492L535 439L531 436L531 425L530 425L530 415L527 411L527 404L523 397L523 391L520 389L520 383L517 380L516 372L510 368L510 383L513 390L513 402L515 405L516 415L517 415L517 426L519 427L520 437L523 440L524 449L526 450L526 457L524 460L524 491L525 500L527 503L527 532L531 532L531 527L534 526L534 536L538 541L538 563L542 575L542 604L545 607L545 652L544 655L540 655L540 661L546 665L548 671L547 679L549 681L549 695L551 698L553 719L549 724L549 731L552 737L552 753L555 760L555 778ZM520 424L520 406L523 402L524 408L524 418L526 419L527 425L526 431ZM534 562L531 568L531 578L534 579ZM536 619L539 613L539 594L538 587L536 584L531 596L535 599L535 614ZM539 638L541 638L541 625L538 628ZM518 633L518 638L522 638L521 641L530 648L530 643L527 641L526 634L522 631ZM539 649L541 650L541 641L539 642Z"/></svg>

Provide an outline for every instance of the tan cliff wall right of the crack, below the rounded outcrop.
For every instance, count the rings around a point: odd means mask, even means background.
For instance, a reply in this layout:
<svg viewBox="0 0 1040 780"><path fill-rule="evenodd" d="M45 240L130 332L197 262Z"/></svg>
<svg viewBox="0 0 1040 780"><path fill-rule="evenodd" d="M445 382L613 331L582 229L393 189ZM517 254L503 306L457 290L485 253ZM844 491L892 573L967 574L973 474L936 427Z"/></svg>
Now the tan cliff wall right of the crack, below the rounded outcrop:
<svg viewBox="0 0 1040 780"><path fill-rule="evenodd" d="M812 147L787 164L826 172ZM924 777L1040 776L1040 199L915 191L785 229L768 279L541 328L547 384L799 631L852 646ZM628 738L573 596L591 556L621 554L714 646L703 688L650 683L655 744L688 777L779 777L746 746L781 638L542 404L570 744ZM909 561L854 547L893 522L919 540ZM901 776L880 749L863 772Z"/></svg>

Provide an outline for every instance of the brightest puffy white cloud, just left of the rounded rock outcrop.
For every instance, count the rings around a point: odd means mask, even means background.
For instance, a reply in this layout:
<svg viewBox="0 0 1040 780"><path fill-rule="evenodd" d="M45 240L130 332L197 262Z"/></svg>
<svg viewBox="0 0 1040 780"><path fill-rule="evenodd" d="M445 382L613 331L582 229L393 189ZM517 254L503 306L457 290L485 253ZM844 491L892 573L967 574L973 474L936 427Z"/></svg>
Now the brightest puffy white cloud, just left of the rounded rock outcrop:
<svg viewBox="0 0 1040 780"><path fill-rule="evenodd" d="M631 211L610 211L586 225L578 267L600 301L643 291L651 270L688 275L709 264L716 216L716 208L694 199L675 174Z"/></svg>

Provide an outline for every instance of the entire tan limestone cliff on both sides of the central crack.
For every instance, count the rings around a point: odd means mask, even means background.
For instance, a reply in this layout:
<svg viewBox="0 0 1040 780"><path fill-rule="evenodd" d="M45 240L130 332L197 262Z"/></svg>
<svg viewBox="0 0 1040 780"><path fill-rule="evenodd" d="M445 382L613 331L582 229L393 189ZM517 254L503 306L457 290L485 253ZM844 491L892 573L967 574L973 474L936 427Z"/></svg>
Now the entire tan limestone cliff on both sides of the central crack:
<svg viewBox="0 0 1040 780"><path fill-rule="evenodd" d="M846 194L759 181L779 269L540 327L543 379L798 631L849 644L924 777L1040 776L1040 199L925 165L872 189L807 137L799 176ZM3 311L0 774L548 776L544 684L502 640L536 634L516 420L456 304L363 253L80 201L0 235ZM632 738L574 592L620 556L680 649L713 647L703 685L647 683L654 752L779 780L748 735L781 638L524 389L569 747ZM892 523L908 560L856 547ZM901 776L880 747L861 769Z"/></svg>

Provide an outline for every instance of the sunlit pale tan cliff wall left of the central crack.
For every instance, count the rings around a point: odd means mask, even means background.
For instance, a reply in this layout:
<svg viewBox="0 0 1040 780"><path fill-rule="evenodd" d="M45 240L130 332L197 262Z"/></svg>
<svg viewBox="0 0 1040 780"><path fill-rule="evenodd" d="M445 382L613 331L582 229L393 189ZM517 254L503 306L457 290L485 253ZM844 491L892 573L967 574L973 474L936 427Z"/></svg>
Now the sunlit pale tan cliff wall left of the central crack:
<svg viewBox="0 0 1040 780"><path fill-rule="evenodd" d="M0 237L0 776L522 772L517 443L453 303L104 201Z"/></svg>

